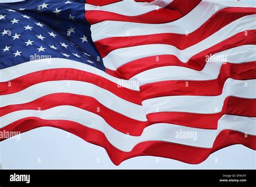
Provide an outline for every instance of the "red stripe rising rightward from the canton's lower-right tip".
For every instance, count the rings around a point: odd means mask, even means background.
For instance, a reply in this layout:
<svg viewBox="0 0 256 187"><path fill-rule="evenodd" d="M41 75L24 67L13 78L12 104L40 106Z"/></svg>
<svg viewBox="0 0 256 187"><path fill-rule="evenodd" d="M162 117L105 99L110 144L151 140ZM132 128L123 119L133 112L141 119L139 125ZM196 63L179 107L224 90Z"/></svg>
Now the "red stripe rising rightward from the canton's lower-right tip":
<svg viewBox="0 0 256 187"><path fill-rule="evenodd" d="M248 35L245 35L245 32L240 32L233 35L226 40L219 42L205 51L202 51L194 56L192 56L186 63L181 62L175 55L156 55L144 57L142 59L134 60L129 63L124 64L119 67L116 72L113 72L110 69L106 68L106 73L115 76L117 74L122 75L124 79L130 79L132 76L157 67L163 66L181 66L196 70L202 70L205 66L206 55L215 54L226 49L233 47L238 47L242 45L255 45L256 44L256 30L247 31ZM159 61L156 61L156 59Z"/></svg>

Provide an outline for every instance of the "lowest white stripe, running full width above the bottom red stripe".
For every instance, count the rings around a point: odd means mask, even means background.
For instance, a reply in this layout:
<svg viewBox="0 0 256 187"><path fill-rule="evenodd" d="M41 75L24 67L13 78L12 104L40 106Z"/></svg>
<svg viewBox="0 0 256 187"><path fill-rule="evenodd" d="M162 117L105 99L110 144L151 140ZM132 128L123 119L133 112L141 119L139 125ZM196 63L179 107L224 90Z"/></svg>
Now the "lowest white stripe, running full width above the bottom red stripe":
<svg viewBox="0 0 256 187"><path fill-rule="evenodd" d="M93 128L106 135L110 143L124 152L130 152L134 146L144 141L165 141L188 146L211 148L216 136L222 130L234 130L255 135L255 119L239 116L223 116L218 121L218 130L191 128L173 124L154 124L146 127L140 136L127 136L111 127L95 113L74 106L57 106L45 111L22 110L0 117L2 127L22 118L38 117L48 120L70 120ZM181 132L181 133L180 133ZM191 138L182 138L182 133L191 133ZM181 136L178 136L181 135Z"/></svg>

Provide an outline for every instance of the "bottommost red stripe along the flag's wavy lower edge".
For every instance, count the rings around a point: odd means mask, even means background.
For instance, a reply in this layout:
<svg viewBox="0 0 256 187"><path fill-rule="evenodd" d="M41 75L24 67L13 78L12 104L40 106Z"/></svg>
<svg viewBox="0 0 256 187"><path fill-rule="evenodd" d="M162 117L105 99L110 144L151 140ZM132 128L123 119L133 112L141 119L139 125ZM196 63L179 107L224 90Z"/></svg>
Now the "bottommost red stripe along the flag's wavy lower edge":
<svg viewBox="0 0 256 187"><path fill-rule="evenodd" d="M207 159L211 153L227 146L242 144L248 148L256 149L256 136L245 136L244 133L232 130L221 131L215 139L212 148L192 147L163 141L145 141L138 143L131 152L123 152L112 146L102 132L67 120L43 120L30 117L15 121L2 128L2 130L18 131L22 133L43 126L60 128L79 136L87 142L105 148L111 161L116 165L119 165L121 162L131 157L143 155L161 156L181 162L198 164ZM3 139L0 139L0 141L1 140Z"/></svg>

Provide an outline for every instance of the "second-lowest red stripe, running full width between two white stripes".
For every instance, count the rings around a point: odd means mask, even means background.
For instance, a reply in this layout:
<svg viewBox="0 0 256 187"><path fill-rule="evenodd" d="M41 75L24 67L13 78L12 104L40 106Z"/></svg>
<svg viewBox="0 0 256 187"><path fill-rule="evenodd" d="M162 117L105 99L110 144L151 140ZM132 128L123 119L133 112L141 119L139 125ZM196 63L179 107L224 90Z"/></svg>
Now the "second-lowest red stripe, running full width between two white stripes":
<svg viewBox="0 0 256 187"><path fill-rule="evenodd" d="M237 116L256 116L256 99L227 97L223 110L216 114L196 114L186 112L158 112L147 114L148 121L138 121L100 104L95 98L71 93L53 93L29 103L8 105L0 108L0 116L19 110L47 110L60 105L76 106L95 113L116 130L134 136L141 135L144 128L156 123L178 124L195 128L216 129L218 120L224 114ZM187 120L191 119L191 120Z"/></svg>

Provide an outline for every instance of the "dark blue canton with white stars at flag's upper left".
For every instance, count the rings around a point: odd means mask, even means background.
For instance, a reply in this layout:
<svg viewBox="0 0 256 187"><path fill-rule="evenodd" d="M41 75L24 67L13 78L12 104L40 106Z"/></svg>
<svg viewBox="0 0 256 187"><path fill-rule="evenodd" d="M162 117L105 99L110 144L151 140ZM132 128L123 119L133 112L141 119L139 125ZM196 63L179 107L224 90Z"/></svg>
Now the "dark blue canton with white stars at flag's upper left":
<svg viewBox="0 0 256 187"><path fill-rule="evenodd" d="M1 3L0 69L46 56L105 70L84 6L81 0Z"/></svg>

